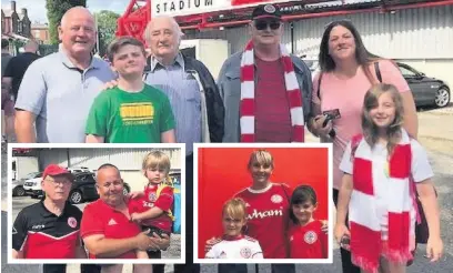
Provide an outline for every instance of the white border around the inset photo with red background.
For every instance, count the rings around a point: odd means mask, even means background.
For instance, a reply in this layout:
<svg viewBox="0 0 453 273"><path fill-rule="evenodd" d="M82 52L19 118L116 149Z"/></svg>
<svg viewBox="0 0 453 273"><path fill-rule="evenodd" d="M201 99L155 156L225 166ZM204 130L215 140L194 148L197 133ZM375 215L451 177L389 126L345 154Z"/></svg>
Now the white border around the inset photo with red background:
<svg viewBox="0 0 453 273"><path fill-rule="evenodd" d="M324 148L328 149L328 210L329 210L329 256L328 259L199 259L198 257L198 242L199 242L199 226L198 226L198 156L199 148ZM332 164L333 164L333 150L332 143L194 143L193 144L193 261L194 263L204 264L332 264L333 263L333 196L332 196Z"/></svg>

